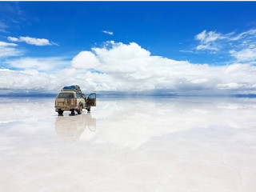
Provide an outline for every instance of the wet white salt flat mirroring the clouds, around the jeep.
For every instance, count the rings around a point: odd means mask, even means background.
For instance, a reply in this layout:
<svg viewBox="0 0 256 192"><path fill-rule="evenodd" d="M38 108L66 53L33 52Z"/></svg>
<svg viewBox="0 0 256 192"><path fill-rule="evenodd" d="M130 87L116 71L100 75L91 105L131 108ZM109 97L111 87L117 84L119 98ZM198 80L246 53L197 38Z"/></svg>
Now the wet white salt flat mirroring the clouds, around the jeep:
<svg viewBox="0 0 256 192"><path fill-rule="evenodd" d="M0 191L255 191L255 98L2 98Z"/></svg>

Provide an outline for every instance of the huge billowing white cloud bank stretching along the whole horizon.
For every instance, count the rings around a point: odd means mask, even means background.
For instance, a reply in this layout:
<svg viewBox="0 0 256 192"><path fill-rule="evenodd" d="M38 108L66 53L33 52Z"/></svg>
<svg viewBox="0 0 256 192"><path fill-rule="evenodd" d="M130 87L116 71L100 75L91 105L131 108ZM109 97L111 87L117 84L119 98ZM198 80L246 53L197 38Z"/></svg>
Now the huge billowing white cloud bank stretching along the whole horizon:
<svg viewBox="0 0 256 192"><path fill-rule="evenodd" d="M43 87L44 90L56 92L62 86L78 84L86 91L128 94L256 93L254 65L234 63L228 66L210 66L175 61L152 56L135 42L107 42L106 46L78 53L70 66L55 74L37 73L37 81L34 81L30 70L1 70L0 89L12 89L11 85L22 79L22 84L15 84L15 89L32 87L30 89L38 90L38 87ZM9 80L6 82L4 79ZM46 85L45 79L51 85Z"/></svg>

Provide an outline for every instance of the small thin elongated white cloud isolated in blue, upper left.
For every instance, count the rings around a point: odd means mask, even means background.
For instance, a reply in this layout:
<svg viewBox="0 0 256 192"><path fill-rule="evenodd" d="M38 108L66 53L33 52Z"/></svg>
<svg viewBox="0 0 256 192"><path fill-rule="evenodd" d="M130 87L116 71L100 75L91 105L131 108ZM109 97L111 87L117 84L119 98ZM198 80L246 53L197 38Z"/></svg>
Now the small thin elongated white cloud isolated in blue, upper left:
<svg viewBox="0 0 256 192"><path fill-rule="evenodd" d="M30 37L8 37L8 40L11 42L26 42L27 44L34 45L34 46L52 46L58 45L55 42L50 42L46 38L30 38Z"/></svg>

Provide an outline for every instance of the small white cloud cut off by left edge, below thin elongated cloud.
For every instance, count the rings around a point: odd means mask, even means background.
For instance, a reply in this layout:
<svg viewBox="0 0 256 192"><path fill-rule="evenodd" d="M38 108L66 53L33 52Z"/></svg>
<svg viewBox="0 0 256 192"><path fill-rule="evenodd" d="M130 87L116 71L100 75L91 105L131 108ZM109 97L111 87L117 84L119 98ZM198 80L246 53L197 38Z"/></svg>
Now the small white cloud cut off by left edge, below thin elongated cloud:
<svg viewBox="0 0 256 192"><path fill-rule="evenodd" d="M15 43L0 42L0 58L21 55L22 50L18 50L15 46L18 45Z"/></svg>

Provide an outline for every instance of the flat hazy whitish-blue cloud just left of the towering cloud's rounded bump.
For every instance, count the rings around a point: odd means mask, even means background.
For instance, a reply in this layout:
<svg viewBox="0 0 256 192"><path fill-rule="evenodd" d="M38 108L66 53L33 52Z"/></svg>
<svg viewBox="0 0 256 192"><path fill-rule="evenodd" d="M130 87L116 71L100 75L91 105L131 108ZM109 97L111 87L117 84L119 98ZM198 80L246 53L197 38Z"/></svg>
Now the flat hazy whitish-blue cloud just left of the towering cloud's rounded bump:
<svg viewBox="0 0 256 192"><path fill-rule="evenodd" d="M56 70L62 69L70 65L69 61L64 58L17 58L7 60L5 62L8 66L24 69L24 70Z"/></svg>

